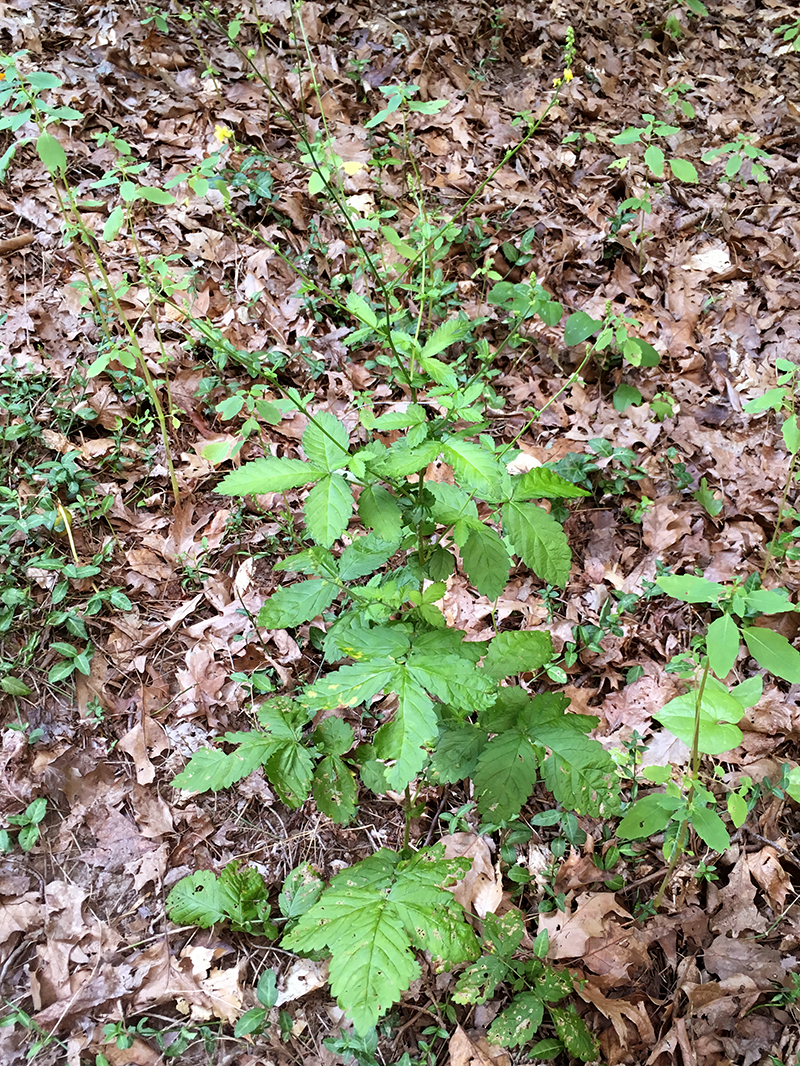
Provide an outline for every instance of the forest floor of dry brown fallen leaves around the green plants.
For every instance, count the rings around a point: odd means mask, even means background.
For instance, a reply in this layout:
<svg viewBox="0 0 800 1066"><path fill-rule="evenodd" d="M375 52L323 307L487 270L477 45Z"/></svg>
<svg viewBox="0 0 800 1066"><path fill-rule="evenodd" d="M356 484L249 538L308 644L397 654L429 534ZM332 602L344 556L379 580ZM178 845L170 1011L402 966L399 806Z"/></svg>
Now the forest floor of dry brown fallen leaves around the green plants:
<svg viewBox="0 0 800 1066"><path fill-rule="evenodd" d="M480 640L513 615L519 628L545 627L559 652L575 645L551 674L572 709L596 716L593 734L608 750L630 749L633 738L646 745L645 761L679 771L688 749L654 714L682 691L676 657L713 615L707 604L652 595L649 583L667 567L729 586L757 574L793 601L800 592L795 377L779 362L794 364L800 343L800 52L775 32L797 9L781 0L709 0L707 15L653 0L311 0L292 16L285 0L256 6L269 26L252 37L253 62L268 71L269 92L231 47L226 27L239 12L225 2L218 23L181 18L177 3L161 15L114 0L0 4L3 52L22 53L25 74L54 75L42 98L80 113L57 116L50 132L172 405L167 455L146 388L114 346L122 324L105 336L87 303L81 282L92 254L64 238L63 184L36 151L35 115L3 119L0 151L16 143L0 187L6 1066L150 1066L164 1054L329 1066L347 1056L347 1037L339 1051L331 1045L342 1039L342 1014L318 964L219 925L176 926L165 912L170 889L197 870L245 858L276 897L303 862L327 878L404 840L402 795L363 789L357 820L345 826L311 801L282 804L260 772L218 793L172 784L198 747L249 728L254 672L289 693L320 666L308 625L252 625L283 580L274 564L302 538L301 494L265 513L215 491L251 390L263 386L271 402L293 386L348 429L365 397L387 410L407 400L375 344L345 343L353 325L337 300L352 278L352 240L330 201L309 194L287 115L311 139L324 118L356 215L384 212L402 242L421 200L431 224L462 227L426 284L437 287L443 317L480 319L496 353L482 371L496 394L485 432L505 443L518 437L531 463L573 456L591 487L566 520L566 587L545 587L521 565L493 610L455 575L439 604L452 627ZM251 22L245 13L243 43ZM554 87L569 27L572 77ZM380 90L396 84L446 106L412 110L405 132L399 115L368 126L386 107ZM503 162L525 129L515 117L541 116L557 91L537 133ZM4 115L15 107L6 101ZM643 129L642 116L677 128L655 129L652 144L668 161L691 162L697 181L677 179L679 163L672 178L647 177L646 142L619 139ZM758 151L745 152L737 173L733 164L725 172L735 147L704 160L741 136L741 151ZM135 180L159 191L212 159L231 210L183 182L175 195L137 201L132 236L109 230L124 191L113 139L141 165ZM652 152L647 160L659 168ZM620 208L643 197L652 211ZM397 247L387 241L388 261ZM167 286L189 294L207 334L187 324L175 300L154 303L144 262L161 272L161 295ZM576 375L575 350L541 323L507 343L487 291L496 278L516 284L532 273L567 312L636 320L631 335L660 364L596 358ZM468 367L469 353L462 358ZM752 410L781 382L775 402ZM284 408L233 464L297 457L307 424ZM797 619L787 611L766 621L794 641ZM757 672L742 653L735 679ZM705 761L708 780L722 792L745 778L773 787L762 786L721 854L694 840L650 916L668 866L662 838L612 872L593 861L613 837L601 820L581 815L580 831L539 826L519 854L530 874L521 895L499 879L466 787L421 788L412 839L460 833L484 847L484 878L513 895L533 936L542 897L563 895L566 926L551 931L549 958L570 968L578 1013L612 1066L798 1061L800 819L778 782L800 762L800 684L765 675L740 728L740 744ZM537 792L527 815L546 807ZM538 877L554 854L549 879ZM278 975L274 1023L235 1036L242 1012L257 1005L265 967ZM405 1053L427 1066L523 1061L483 1039L502 995L455 1007L448 980L423 970L379 1027L377 1048L351 1046L359 1066Z"/></svg>

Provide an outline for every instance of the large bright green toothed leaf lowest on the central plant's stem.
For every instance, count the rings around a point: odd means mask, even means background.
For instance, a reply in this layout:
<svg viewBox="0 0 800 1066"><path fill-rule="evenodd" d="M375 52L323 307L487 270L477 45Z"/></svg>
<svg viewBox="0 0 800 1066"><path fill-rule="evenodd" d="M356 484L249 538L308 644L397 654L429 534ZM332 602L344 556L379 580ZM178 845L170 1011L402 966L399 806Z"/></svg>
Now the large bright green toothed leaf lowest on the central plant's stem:
<svg viewBox="0 0 800 1066"><path fill-rule="evenodd" d="M478 954L460 905L444 888L467 863L443 855L441 844L405 860L381 849L337 874L282 941L290 951L331 955L331 990L359 1035L419 975L414 947L452 951L454 957L442 957L448 964ZM459 926L466 931L454 933Z"/></svg>

